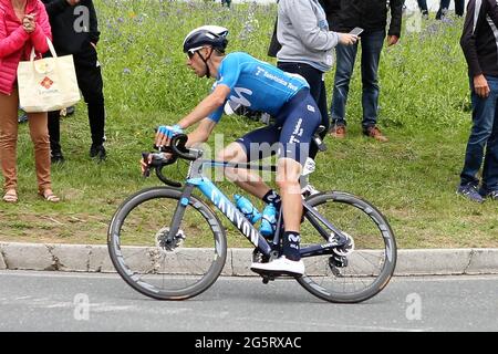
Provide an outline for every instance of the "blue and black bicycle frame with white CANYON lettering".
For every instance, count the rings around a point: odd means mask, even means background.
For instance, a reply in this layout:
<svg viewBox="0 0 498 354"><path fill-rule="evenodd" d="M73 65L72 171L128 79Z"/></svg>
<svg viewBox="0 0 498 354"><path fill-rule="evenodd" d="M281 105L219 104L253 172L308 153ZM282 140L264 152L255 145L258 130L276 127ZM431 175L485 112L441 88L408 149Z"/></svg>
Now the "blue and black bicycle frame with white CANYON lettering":
<svg viewBox="0 0 498 354"><path fill-rule="evenodd" d="M252 164L234 164L227 162L211 160L211 159L196 159L190 162L186 184L181 192L180 200L177 204L175 214L173 216L172 225L169 228L169 237L178 232L179 225L185 214L185 209L188 206L189 198L195 188L198 188L206 198L208 198L216 208L221 211L228 220L256 247L259 251L267 257L270 257L273 248L264 239L264 237L252 226L252 223L237 209L237 207L228 199L225 194L219 190L216 185L203 174L205 167L224 167L224 168L243 168L243 169L258 169L277 171L277 166L260 166ZM323 239L326 241L324 244L312 244L302 247L300 249L301 257L312 257L318 254L330 253L333 248L344 244L347 238L341 230L335 228L329 220L320 215L313 207L311 207L305 200L302 200L304 216L311 222L311 225L320 232ZM281 232L282 212L280 212L277 231L273 237L273 244L279 244ZM328 232L321 225L325 225L331 232ZM334 239L336 237L338 239Z"/></svg>

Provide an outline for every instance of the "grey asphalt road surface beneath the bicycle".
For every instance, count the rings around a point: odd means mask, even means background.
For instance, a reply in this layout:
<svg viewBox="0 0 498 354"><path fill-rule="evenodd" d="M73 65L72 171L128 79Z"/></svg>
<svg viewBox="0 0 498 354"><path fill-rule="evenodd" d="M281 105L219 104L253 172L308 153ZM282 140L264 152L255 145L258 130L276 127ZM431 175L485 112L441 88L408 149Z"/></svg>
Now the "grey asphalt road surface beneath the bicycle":
<svg viewBox="0 0 498 354"><path fill-rule="evenodd" d="M361 304L292 280L220 278L197 298L148 299L116 274L0 271L0 331L498 331L498 275L397 277Z"/></svg>

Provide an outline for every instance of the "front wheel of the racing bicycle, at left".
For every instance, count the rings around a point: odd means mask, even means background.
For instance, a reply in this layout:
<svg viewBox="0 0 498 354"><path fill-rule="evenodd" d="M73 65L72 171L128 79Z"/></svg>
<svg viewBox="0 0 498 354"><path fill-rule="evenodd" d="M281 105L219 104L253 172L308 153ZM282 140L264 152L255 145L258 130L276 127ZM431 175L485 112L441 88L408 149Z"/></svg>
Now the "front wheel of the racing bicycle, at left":
<svg viewBox="0 0 498 354"><path fill-rule="evenodd" d="M107 248L114 268L133 289L153 299L196 296L214 284L225 266L225 229L195 196L190 196L174 242L160 243L180 198L180 190L168 187L141 190L118 207L108 227ZM208 230L212 232L211 247L205 244Z"/></svg>

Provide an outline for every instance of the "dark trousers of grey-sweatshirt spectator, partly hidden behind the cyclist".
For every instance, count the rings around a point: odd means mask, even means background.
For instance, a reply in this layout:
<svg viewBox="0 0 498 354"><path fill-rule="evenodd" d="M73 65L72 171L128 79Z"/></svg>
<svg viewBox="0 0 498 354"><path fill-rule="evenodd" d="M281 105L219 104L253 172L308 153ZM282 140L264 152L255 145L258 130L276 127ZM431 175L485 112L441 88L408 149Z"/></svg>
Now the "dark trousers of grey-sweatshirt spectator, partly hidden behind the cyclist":
<svg viewBox="0 0 498 354"><path fill-rule="evenodd" d="M329 114L326 112L326 91L325 91L325 82L324 82L324 73L313 66L304 63L288 63L288 62L278 62L277 66L284 72L300 74L308 81L310 85L310 94L313 97L314 102L320 110L322 115L322 122L320 123L325 127L322 133L320 133L320 137L325 137L329 132L330 122ZM318 154L318 147L315 144L311 144L310 146L310 157L315 158Z"/></svg>

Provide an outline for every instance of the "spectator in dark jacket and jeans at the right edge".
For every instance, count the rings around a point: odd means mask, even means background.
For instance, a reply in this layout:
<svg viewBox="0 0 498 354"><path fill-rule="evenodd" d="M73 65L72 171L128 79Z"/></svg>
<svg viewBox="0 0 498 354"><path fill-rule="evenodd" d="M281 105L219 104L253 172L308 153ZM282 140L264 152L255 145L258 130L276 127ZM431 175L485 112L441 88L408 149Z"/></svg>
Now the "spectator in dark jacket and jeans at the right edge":
<svg viewBox="0 0 498 354"><path fill-rule="evenodd" d="M496 0L470 0L460 45L468 64L473 128L465 153L457 194L483 202L498 200L498 27ZM483 178L476 177L484 159Z"/></svg>

